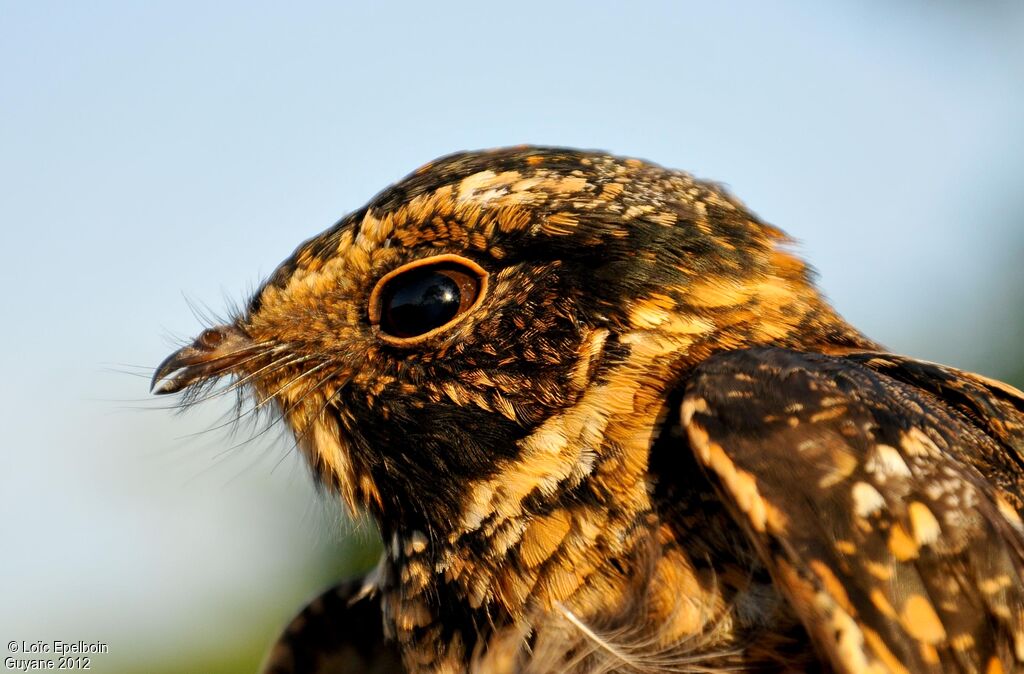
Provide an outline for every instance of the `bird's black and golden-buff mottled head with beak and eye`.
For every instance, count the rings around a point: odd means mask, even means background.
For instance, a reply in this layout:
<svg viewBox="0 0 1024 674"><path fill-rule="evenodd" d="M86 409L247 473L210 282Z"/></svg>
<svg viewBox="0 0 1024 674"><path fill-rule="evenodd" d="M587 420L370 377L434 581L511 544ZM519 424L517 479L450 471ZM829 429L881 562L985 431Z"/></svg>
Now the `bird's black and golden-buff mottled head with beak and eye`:
<svg viewBox="0 0 1024 674"><path fill-rule="evenodd" d="M385 530L458 534L559 494L600 499L581 486L602 470L642 499L688 368L860 339L786 244L721 187L638 160L454 155L299 246L154 389L237 378Z"/></svg>

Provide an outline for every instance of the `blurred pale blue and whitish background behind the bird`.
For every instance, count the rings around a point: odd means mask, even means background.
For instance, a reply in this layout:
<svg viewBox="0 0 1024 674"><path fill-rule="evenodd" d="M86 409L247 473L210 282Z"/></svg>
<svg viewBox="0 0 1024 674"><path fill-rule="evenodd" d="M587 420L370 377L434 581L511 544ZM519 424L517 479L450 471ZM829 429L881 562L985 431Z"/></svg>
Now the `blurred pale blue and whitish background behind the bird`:
<svg viewBox="0 0 1024 674"><path fill-rule="evenodd" d="M175 418L108 368L157 364L197 331L182 294L242 299L453 151L724 181L869 335L996 369L1024 5L896 4L0 0L0 649L101 639L104 671L242 648L331 575L340 515L286 444L182 437L226 407Z"/></svg>

